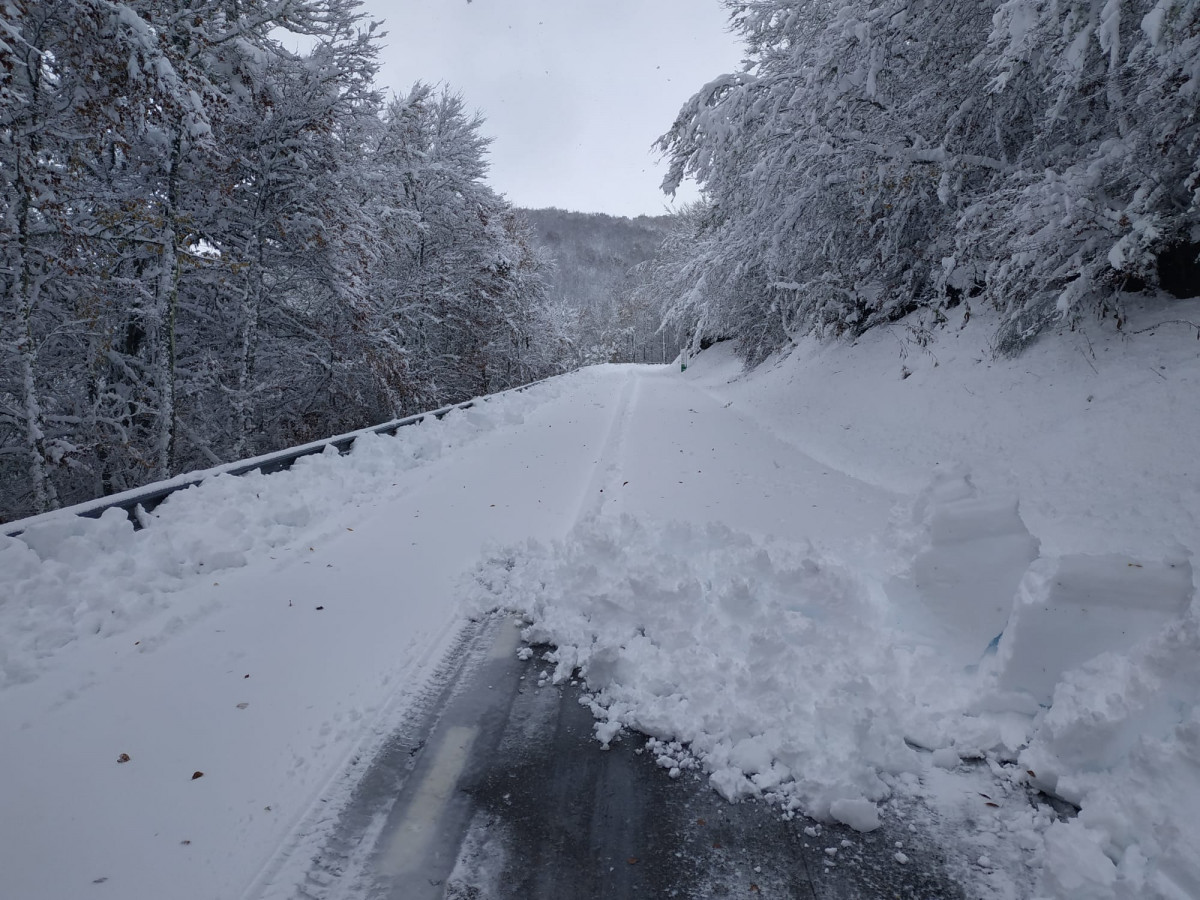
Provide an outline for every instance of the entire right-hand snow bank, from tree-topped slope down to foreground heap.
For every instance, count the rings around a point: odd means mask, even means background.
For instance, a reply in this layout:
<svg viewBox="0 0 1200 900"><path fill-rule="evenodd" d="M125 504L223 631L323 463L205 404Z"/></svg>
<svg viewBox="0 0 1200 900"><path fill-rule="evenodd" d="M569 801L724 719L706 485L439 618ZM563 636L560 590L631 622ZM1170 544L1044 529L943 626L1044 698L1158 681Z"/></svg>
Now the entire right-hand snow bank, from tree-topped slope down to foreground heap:
<svg viewBox="0 0 1200 900"><path fill-rule="evenodd" d="M889 620L980 662L954 678L977 679L974 698L914 734L946 767L918 793L972 839L988 821L978 794L937 786L973 748L1002 786L1081 808L989 814L989 859L1024 853L990 882L997 896L1200 896L1198 319L1200 301L1151 299L1129 304L1126 334L1079 323L1015 360L995 359L976 323L928 344L900 324L853 346L804 341L749 374L722 349L689 370L798 451L916 498L883 574ZM944 474L922 493L931 469ZM972 659L989 631L1003 635ZM1037 884L1014 889L1025 865Z"/></svg>

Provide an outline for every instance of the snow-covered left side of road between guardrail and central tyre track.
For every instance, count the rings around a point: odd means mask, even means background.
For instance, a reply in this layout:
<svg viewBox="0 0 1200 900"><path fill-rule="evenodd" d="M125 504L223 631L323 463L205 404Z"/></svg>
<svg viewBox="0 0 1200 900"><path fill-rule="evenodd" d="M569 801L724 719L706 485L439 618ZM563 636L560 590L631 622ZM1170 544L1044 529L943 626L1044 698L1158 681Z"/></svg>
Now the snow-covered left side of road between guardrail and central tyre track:
<svg viewBox="0 0 1200 900"><path fill-rule="evenodd" d="M7 541L0 895L241 896L402 715L481 548L574 523L630 378Z"/></svg>

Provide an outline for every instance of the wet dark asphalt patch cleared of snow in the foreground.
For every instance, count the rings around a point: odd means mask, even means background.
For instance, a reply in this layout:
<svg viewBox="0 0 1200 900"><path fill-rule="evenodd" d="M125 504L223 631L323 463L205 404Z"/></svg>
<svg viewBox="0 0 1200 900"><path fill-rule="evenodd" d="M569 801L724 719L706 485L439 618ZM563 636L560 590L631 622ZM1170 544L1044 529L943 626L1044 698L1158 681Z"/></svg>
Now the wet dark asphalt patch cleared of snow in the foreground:
<svg viewBox="0 0 1200 900"><path fill-rule="evenodd" d="M538 686L546 664L518 660L520 647L505 617L464 631L366 767L301 896L964 896L936 847L896 860L896 841L912 848L919 835L726 803L700 773L668 778L641 734L601 749L582 685Z"/></svg>

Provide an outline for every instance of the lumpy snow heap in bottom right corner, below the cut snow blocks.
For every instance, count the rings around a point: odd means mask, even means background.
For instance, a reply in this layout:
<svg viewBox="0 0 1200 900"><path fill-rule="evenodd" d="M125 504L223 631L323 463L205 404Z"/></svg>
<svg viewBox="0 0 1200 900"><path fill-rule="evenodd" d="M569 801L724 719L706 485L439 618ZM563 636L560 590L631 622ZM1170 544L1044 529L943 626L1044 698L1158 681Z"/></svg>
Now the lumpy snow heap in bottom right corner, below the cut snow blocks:
<svg viewBox="0 0 1200 900"><path fill-rule="evenodd" d="M1046 833L1046 896L1200 896L1195 611L1129 653L1068 672L1021 766L1081 806Z"/></svg>

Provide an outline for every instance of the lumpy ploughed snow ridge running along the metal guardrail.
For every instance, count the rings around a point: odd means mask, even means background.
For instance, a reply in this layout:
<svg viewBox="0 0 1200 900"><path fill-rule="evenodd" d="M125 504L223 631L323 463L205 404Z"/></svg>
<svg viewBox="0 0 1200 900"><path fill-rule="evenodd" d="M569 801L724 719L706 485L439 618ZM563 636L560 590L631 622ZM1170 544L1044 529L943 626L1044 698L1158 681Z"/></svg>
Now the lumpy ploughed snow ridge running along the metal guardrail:
<svg viewBox="0 0 1200 900"><path fill-rule="evenodd" d="M541 398L553 388L539 390ZM497 426L521 422L527 395L504 395L440 420L366 433L347 456L328 448L271 475L217 475L168 497L134 530L125 512L38 516L18 538L0 535L0 689L29 682L67 644L120 634L164 612L180 622L208 608L173 610L170 595L222 571L313 542L329 514L386 494L400 473Z"/></svg>

